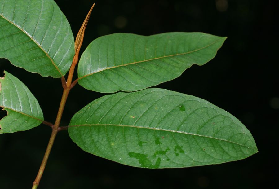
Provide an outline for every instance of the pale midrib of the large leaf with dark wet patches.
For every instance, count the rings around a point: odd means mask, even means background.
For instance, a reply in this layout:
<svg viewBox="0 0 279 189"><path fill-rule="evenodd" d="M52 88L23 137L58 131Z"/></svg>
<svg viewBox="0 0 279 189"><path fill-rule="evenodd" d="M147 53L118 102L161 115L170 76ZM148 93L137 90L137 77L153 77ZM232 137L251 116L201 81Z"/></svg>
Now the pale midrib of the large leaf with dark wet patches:
<svg viewBox="0 0 279 189"><path fill-rule="evenodd" d="M161 130L161 131L167 131L167 132L171 132L171 133L183 133L183 134L189 134L189 135L195 135L195 136L200 136L200 137L206 137L206 138L212 138L212 139L216 139L216 140L222 140L225 142L230 142L230 143L234 143L246 148L250 148L255 150L256 152L258 152L258 150L245 146L243 144L239 144L233 141L229 141L223 138L214 138L214 137L210 137L210 136L206 136L206 135L201 135L201 134L194 134L194 133L188 133L188 132L183 132L183 131L175 131L175 130L170 130L170 129L159 129L159 128L154 128L154 127L145 127L145 126L135 126L135 125L120 125L120 124L85 124L85 125L69 125L69 127L79 127L79 126L120 126L120 127L133 127L133 128L140 128L140 129L152 129L152 130Z"/></svg>

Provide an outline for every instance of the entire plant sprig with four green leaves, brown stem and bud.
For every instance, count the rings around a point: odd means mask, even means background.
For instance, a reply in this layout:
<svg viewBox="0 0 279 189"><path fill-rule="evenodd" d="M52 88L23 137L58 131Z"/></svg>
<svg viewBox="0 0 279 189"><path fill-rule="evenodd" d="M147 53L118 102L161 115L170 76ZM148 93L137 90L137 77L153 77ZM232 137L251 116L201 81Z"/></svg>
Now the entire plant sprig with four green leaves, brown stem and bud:
<svg viewBox="0 0 279 189"><path fill-rule="evenodd" d="M7 111L0 133L28 130L42 122L53 129L42 166L62 130L63 108L77 83L72 77L66 83L64 75L80 48L90 13L75 48L69 23L53 0L0 0L0 58L44 77L62 77L64 82L53 125L44 121L36 98L20 80L7 72L0 79L0 107ZM76 81L103 93L136 92L105 95L82 108L66 127L71 139L86 152L144 168L218 164L257 153L249 130L228 112L191 95L146 89L179 77L193 64L210 61L225 39L183 32L116 33L95 39L81 56ZM78 60L76 52L69 76Z"/></svg>

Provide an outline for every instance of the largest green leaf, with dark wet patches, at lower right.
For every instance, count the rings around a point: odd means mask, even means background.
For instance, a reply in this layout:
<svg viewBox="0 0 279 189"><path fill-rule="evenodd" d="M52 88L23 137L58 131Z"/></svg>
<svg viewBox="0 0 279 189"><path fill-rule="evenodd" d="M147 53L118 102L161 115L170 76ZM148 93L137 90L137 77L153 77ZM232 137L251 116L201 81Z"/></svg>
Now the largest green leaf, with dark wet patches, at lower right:
<svg viewBox="0 0 279 189"><path fill-rule="evenodd" d="M86 152L135 167L218 164L258 152L237 118L206 100L164 89L105 95L69 125L71 139Z"/></svg>

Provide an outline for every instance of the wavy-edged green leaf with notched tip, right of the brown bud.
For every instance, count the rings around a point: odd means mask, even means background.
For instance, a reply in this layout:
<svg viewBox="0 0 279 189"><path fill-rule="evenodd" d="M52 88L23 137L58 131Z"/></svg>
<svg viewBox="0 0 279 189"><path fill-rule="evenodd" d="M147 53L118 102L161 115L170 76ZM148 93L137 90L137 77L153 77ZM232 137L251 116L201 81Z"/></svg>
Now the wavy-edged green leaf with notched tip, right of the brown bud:
<svg viewBox="0 0 279 189"><path fill-rule="evenodd" d="M145 89L179 77L193 64L205 64L215 57L225 39L184 32L99 37L81 56L78 83L103 93Z"/></svg>

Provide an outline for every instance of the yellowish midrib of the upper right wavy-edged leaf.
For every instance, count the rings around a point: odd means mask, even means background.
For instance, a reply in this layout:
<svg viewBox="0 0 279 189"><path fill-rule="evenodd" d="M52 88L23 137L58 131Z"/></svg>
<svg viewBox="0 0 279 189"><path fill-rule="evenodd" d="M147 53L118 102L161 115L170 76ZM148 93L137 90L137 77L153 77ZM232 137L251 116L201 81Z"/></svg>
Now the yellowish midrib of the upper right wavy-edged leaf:
<svg viewBox="0 0 279 189"><path fill-rule="evenodd" d="M153 58L153 59L147 59L147 60L141 60L141 61L137 61L137 62L130 62L130 63L127 63L127 64L121 64L121 65L118 65L118 66L112 66L112 67L108 67L108 68L104 68L104 69L100 69L96 72L92 72L92 73L89 73L85 76L82 76L82 77L79 77L78 80L80 79L83 79L84 77L87 77L87 76L90 76L90 75L93 75L94 73L99 73L99 72L102 72L104 70L107 70L107 69L113 69L113 68L118 68L118 67L121 67L121 66L127 66L127 65L130 65L130 64L138 64L138 63L141 63L141 62L149 62L149 61L152 61L152 60L156 60L156 59L162 59L162 58L167 58L167 57L172 57L172 56L178 56L178 55L186 55L186 54L190 54L190 53L193 53L193 52L196 52L196 51L200 51L202 49L205 49L213 44L215 44L216 42L222 40L223 38L220 38L218 40L216 40L215 42L207 45L207 46L204 46L204 47L201 47L199 49L195 49L193 51L189 51L189 52L185 52L185 53L178 53L178 54L174 54L174 55L166 55L166 56L161 56L161 57L157 57L157 58Z"/></svg>

